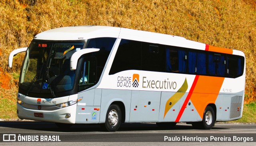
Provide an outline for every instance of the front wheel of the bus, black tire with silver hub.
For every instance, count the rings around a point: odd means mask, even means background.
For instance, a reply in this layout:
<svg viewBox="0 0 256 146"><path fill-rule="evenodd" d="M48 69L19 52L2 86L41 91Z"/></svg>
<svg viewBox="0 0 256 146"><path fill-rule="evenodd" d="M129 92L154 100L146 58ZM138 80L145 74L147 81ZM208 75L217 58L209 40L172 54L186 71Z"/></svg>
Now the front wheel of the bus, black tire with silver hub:
<svg viewBox="0 0 256 146"><path fill-rule="evenodd" d="M121 125L122 113L118 105L110 105L106 114L106 121L100 125L103 130L114 132Z"/></svg>

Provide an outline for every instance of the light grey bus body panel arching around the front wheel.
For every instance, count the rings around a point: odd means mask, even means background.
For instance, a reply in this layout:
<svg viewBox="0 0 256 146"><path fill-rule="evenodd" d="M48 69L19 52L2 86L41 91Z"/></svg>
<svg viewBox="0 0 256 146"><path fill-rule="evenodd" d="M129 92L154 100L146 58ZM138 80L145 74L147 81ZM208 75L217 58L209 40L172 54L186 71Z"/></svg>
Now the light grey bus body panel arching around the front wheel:
<svg viewBox="0 0 256 146"><path fill-rule="evenodd" d="M124 104L125 122L128 123L130 119L131 95L132 95L132 90L102 89L102 98L101 98L101 106L100 106L100 111L101 111L100 123L105 123L108 107L115 101L120 101Z"/></svg>

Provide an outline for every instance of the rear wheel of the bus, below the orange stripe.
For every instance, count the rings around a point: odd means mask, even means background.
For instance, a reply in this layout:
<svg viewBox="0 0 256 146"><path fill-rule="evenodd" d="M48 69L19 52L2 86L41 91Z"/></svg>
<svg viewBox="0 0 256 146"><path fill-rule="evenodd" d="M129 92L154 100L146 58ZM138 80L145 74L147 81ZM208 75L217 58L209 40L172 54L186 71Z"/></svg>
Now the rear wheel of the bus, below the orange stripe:
<svg viewBox="0 0 256 146"><path fill-rule="evenodd" d="M214 126L215 113L211 106L207 106L204 110L203 121L193 122L192 126L196 129L210 130Z"/></svg>

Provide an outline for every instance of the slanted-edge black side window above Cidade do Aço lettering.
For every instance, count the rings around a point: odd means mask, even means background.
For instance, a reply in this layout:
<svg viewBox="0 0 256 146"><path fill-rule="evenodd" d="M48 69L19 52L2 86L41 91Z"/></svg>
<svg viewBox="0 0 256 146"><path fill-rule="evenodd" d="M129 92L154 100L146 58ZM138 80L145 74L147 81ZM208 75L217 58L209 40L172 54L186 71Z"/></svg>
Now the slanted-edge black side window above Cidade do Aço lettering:
<svg viewBox="0 0 256 146"><path fill-rule="evenodd" d="M124 70L141 70L141 42L121 40L109 74Z"/></svg>

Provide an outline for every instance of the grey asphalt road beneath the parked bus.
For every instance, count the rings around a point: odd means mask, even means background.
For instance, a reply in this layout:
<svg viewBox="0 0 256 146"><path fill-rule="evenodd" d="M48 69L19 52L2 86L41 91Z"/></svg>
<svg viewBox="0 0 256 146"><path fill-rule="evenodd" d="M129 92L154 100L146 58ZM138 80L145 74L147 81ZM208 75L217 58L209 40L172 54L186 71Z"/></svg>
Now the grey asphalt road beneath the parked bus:
<svg viewBox="0 0 256 146"><path fill-rule="evenodd" d="M4 134L14 134L16 136L16 142L3 142ZM21 138L18 141L18 134L20 134L24 141L29 140L28 136L40 136L44 137L44 141L61 140L60 142L21 142ZM7 136L7 135L5 135ZM13 135L11 135L13 136ZM20 137L21 137L20 136ZM54 137L55 136L55 137ZM186 140L186 137L193 137L194 140L201 140L202 142L190 142L193 140ZM212 139L211 142L203 141L208 137L207 141L210 141L210 136L213 138L219 138L218 140ZM240 138L240 141L247 142L229 142L228 138L236 136ZM248 142L252 139L254 142ZM27 139L25 139L27 138ZM36 138L36 137L34 137ZM50 138L50 139L48 139ZM166 140L164 141L164 138ZM168 139L169 138L169 139ZM180 138L180 139L179 139ZM222 141L220 142L221 139ZM226 140L225 140L226 138ZM245 138L245 139L243 139ZM246 140L246 138L249 138ZM11 138L12 139L12 138ZM168 141L172 140L172 141ZM219 141L219 142L218 142ZM252 124L216 124L211 130L198 130L193 129L191 125L177 124L173 129L162 129L154 123L125 123L122 124L116 132L104 132L99 125L74 125L69 129L60 129L56 127L54 123L45 122L0 122L0 145L14 145L14 146L42 146L47 144L48 146L62 146L64 144L72 145L92 145L92 146L112 146L112 145L127 145L127 146L255 146L256 145L256 125Z"/></svg>

